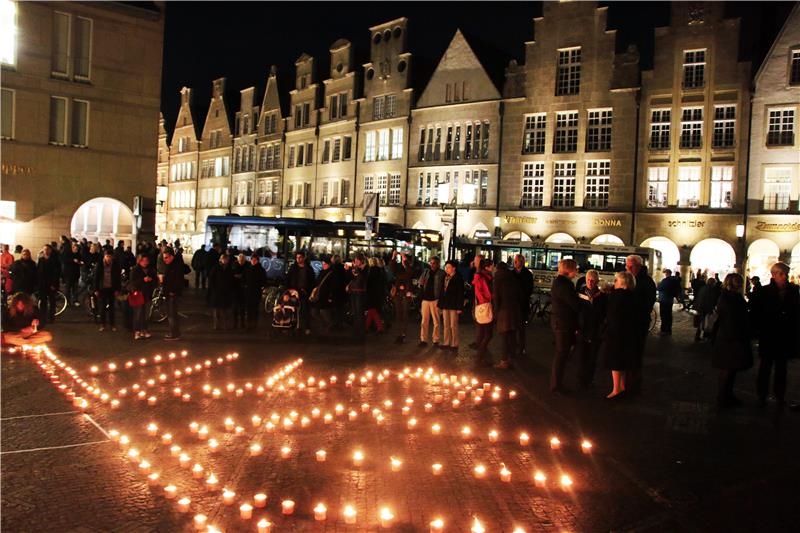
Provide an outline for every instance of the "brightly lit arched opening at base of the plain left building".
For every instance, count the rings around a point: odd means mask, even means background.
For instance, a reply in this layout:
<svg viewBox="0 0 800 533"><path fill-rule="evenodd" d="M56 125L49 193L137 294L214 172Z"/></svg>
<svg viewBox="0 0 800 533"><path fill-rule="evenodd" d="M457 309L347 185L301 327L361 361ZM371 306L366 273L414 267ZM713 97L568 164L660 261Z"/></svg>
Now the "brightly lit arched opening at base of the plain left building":
<svg viewBox="0 0 800 533"><path fill-rule="evenodd" d="M107 197L84 202L72 215L70 233L76 239L104 242L110 239L133 245L136 226L133 212L119 200Z"/></svg>

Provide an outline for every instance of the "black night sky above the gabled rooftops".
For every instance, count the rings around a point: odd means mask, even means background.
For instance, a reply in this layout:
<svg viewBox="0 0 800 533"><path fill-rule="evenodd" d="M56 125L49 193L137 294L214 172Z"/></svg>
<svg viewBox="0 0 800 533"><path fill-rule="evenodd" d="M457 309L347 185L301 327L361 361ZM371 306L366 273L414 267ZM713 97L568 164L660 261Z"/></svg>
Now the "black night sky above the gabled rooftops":
<svg viewBox="0 0 800 533"><path fill-rule="evenodd" d="M636 44L643 68L652 66L653 29L669 24L667 2L599 2L608 5L608 28L617 29L617 49ZM742 17L740 57L760 62L792 8L792 2L728 2L726 15ZM460 28L495 80L509 59L524 62L524 42L533 39L541 2L178 2L166 3L161 109L171 133L180 89L194 92L195 120L205 120L211 82L226 77L226 103L233 115L239 91L256 87L261 104L270 65L278 69L281 105L288 105L294 62L316 59L317 81L328 77L329 46L340 38L354 49L356 71L368 61L369 27L408 18L412 84L421 90ZM300 23L308 20L307 23ZM754 65L755 71L757 65ZM499 81L496 81L499 83ZM498 87L502 90L502 86ZM419 92L417 92L417 96ZM199 127L199 125L198 125Z"/></svg>

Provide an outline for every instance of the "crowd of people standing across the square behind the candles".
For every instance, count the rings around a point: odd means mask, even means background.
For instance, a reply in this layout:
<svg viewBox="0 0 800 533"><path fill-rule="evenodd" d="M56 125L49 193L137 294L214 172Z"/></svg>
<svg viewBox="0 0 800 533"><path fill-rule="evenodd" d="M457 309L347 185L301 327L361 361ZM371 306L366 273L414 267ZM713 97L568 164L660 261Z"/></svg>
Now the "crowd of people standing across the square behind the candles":
<svg viewBox="0 0 800 533"><path fill-rule="evenodd" d="M356 342L391 331L397 344L415 343L420 350L471 357L476 367L510 370L529 355L531 297L537 290L535 273L543 270L529 261L542 258L547 269L555 267L547 287L555 346L552 393L574 392L566 386L572 379L565 372L575 358L580 388L591 389L604 369L612 382L605 394L609 401L639 394L653 310L660 309L659 333L669 336L677 302L694 314L695 341L711 344L720 409L741 404L734 383L754 364L754 340L760 355L758 402L764 405L771 393L779 405L785 403L787 362L800 352L800 292L785 263L774 263L771 279L763 284L737 273L720 280L702 271L685 284L669 269L656 272L656 282L650 268L659 268L659 255L649 249L622 257L621 249L588 253L574 246L531 247L498 261L496 254L486 253L490 250L474 248L462 249L459 260L443 261L430 246L436 238L423 252L419 241L397 233L378 235L381 244L374 245L342 228L323 228L325 235L294 229L293 234L277 230L272 242L249 241L263 244L254 249L246 240L239 241L245 248L232 244L228 237L236 232L227 228L211 232L213 238L191 254L179 241L166 240L140 243L135 251L123 241L100 244L66 236L35 252L16 246L12 253L3 245L3 344L48 342L50 325L62 311L58 296L67 308L88 307L97 334L129 329L133 342L153 336L157 303L158 316L167 323L163 339L178 340L185 320L181 298L194 290L211 311L213 330L318 340L346 335ZM267 237L272 230L256 227L255 233ZM278 275L268 272L265 259L282 261ZM609 272L611 279L604 279ZM691 286L691 302L686 286ZM265 305L270 290L276 297ZM474 323L474 339L462 338L464 323ZM493 354L494 337L500 340Z"/></svg>

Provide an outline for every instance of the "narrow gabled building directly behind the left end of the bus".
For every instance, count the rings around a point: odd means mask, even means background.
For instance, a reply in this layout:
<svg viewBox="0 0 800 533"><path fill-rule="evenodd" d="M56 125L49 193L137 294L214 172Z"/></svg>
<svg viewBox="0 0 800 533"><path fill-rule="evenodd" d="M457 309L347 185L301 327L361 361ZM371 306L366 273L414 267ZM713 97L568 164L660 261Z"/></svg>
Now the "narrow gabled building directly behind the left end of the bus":
<svg viewBox="0 0 800 533"><path fill-rule="evenodd" d="M225 105L225 78L218 78L212 84L211 103L201 137L195 221L198 235L205 233L206 218L209 215L224 215L228 212L231 204L232 155L233 135Z"/></svg>

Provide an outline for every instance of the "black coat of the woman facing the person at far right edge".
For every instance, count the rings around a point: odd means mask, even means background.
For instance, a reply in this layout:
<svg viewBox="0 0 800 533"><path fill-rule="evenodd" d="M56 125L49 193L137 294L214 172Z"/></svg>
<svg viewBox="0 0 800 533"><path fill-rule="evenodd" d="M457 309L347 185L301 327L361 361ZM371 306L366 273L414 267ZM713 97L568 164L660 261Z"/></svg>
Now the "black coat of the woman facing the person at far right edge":
<svg viewBox="0 0 800 533"><path fill-rule="evenodd" d="M711 364L723 370L745 370L753 366L747 302L739 293L723 290L720 294Z"/></svg>

